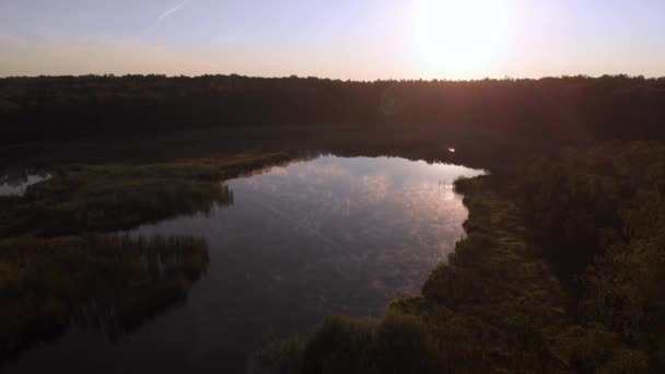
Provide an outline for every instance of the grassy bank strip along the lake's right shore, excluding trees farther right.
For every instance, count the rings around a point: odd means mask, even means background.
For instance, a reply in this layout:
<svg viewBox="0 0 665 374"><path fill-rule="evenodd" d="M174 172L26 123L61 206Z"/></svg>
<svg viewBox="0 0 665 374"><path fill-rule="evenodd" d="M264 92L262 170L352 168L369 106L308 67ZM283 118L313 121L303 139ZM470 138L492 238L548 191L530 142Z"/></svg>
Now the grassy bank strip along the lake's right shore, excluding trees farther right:
<svg viewBox="0 0 665 374"><path fill-rule="evenodd" d="M378 320L330 317L304 340L268 344L257 367L442 373L560 365L548 341L568 323L565 296L549 267L528 253L521 211L494 183L487 176L456 183L469 208L468 236L432 271L422 295L395 301Z"/></svg>

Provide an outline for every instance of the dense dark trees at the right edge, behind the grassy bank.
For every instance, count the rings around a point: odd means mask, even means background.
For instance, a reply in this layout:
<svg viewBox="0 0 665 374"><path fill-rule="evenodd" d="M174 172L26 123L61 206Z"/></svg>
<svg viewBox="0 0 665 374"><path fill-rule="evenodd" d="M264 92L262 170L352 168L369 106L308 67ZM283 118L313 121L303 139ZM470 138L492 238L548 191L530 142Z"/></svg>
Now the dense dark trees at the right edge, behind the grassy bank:
<svg viewBox="0 0 665 374"><path fill-rule="evenodd" d="M582 327L568 338L617 346L593 352L578 340L578 369L627 360L663 371L665 144L563 152L533 162L521 182L529 236L574 296L571 312Z"/></svg>

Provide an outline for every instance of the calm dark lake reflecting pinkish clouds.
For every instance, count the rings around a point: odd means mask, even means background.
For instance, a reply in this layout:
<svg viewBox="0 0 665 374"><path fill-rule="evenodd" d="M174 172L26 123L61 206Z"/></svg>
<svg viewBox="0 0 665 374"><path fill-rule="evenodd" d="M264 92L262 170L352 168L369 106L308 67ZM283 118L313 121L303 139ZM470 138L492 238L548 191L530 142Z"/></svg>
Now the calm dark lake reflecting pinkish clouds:
<svg viewBox="0 0 665 374"><path fill-rule="evenodd" d="M145 225L136 235L209 243L186 305L110 342L74 328L25 352L10 372L242 372L265 335L311 331L325 315L378 316L419 292L464 234L452 190L480 171L404 159L322 156L228 182L233 203Z"/></svg>

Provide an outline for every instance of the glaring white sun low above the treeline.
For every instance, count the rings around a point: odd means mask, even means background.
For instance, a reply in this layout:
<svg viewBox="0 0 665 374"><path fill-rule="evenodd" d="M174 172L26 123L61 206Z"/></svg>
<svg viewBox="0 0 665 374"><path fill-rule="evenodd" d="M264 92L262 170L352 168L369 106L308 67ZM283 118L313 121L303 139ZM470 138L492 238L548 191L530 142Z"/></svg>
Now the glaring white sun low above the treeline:
<svg viewBox="0 0 665 374"><path fill-rule="evenodd" d="M416 69L429 78L481 78L510 42L510 0L420 0L411 30Z"/></svg>

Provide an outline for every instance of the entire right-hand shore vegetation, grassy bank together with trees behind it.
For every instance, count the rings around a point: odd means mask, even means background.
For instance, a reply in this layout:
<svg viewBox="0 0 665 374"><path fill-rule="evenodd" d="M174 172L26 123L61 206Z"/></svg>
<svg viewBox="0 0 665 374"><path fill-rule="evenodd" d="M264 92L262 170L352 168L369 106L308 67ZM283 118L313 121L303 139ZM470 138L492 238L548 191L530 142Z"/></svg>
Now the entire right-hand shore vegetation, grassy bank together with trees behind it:
<svg viewBox="0 0 665 374"><path fill-rule="evenodd" d="M267 344L252 367L661 372L664 173L665 144L634 142L457 180L468 236L422 295L378 320L328 318L305 339Z"/></svg>

